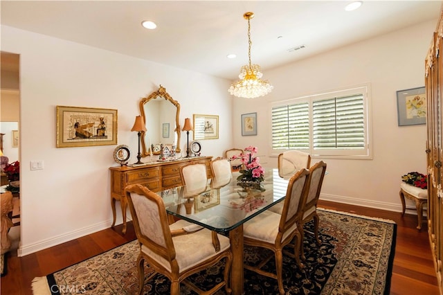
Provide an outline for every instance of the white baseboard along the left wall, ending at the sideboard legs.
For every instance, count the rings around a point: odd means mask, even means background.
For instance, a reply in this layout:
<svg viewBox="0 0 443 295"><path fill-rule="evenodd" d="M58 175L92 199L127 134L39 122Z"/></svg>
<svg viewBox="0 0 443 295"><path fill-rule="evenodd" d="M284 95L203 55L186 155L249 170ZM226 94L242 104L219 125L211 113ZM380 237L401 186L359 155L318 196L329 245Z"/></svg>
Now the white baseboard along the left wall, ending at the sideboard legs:
<svg viewBox="0 0 443 295"><path fill-rule="evenodd" d="M81 238L85 235L96 233L97 231L102 231L103 229L108 229L109 227L111 227L111 225L112 221L109 220L107 222L100 222L98 224L93 224L92 226L87 226L82 229L78 229L77 231L71 231L70 233L64 233L63 235L57 235L53 238L41 240L33 244L28 244L25 246L22 246L20 244L19 249L17 249L17 256L22 257L31 253L35 253L37 251L41 251L43 249L47 249L49 247L57 246L64 242L69 242L71 240Z"/></svg>

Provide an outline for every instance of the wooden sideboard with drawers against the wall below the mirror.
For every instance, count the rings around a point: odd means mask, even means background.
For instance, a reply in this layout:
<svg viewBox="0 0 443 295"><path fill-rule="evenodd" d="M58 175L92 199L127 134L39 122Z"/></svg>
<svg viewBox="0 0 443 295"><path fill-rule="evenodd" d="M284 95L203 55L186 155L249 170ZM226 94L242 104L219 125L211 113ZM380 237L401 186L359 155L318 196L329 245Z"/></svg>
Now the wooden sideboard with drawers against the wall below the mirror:
<svg viewBox="0 0 443 295"><path fill-rule="evenodd" d="M123 216L123 233L126 233L126 206L125 188L129 184L142 184L154 192L182 186L181 167L192 162L205 163L208 178L211 178L210 161L213 157L195 157L179 161L154 162L143 166L111 167L111 208L116 225L116 201L120 201Z"/></svg>

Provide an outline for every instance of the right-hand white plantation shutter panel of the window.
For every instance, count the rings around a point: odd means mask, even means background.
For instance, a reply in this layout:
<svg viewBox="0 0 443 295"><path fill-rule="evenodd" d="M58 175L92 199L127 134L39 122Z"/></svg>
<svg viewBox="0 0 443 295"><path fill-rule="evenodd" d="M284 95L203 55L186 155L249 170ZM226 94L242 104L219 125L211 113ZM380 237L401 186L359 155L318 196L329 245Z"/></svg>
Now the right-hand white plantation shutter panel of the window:
<svg viewBox="0 0 443 295"><path fill-rule="evenodd" d="M365 126L363 95L312 102L314 149L363 149Z"/></svg>

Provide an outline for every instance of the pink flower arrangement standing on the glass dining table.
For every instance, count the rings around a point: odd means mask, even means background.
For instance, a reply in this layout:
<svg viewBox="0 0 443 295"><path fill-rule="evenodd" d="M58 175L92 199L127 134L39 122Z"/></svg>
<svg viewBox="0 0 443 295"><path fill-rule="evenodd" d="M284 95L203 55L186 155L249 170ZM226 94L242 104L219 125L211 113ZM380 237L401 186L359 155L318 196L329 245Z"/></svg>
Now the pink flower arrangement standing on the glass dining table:
<svg viewBox="0 0 443 295"><path fill-rule="evenodd" d="M260 182L264 180L264 169L260 165L260 158L256 157L257 147L252 145L245 147L244 153L235 155L232 159L241 159L244 169L241 169L238 181L255 181Z"/></svg>

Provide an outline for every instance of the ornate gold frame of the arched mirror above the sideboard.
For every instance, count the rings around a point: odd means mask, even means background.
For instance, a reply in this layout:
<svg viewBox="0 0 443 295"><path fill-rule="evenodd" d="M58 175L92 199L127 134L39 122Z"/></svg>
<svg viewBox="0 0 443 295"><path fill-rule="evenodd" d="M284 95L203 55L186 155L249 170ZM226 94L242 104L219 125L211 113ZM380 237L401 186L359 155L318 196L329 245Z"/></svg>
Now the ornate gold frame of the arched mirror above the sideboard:
<svg viewBox="0 0 443 295"><path fill-rule="evenodd" d="M164 98L165 100L168 100L169 102L172 103L172 105L174 105L177 108L176 111L176 115L175 115L175 129L174 132L177 134L177 147L176 147L176 152L180 152L180 137L181 137L181 132L180 132L180 123L179 123L179 115L180 115L180 104L179 102L177 102L177 100L174 100L168 92L166 92L165 87L161 86L159 87L159 90L154 91L150 94L150 96L147 96L145 98L142 98L140 101L140 112L141 112L141 116L143 117L143 120L146 122L146 114L145 114L145 105L147 102L149 102L150 100L154 100L156 98ZM146 126L146 128L149 130L150 126ZM142 132L141 133L141 145L142 145L142 154L141 157L147 157L150 155L150 147L147 146L146 144L146 138L145 138L145 133L146 132ZM152 143L154 144L154 143ZM152 154L159 154L159 152L152 152Z"/></svg>

